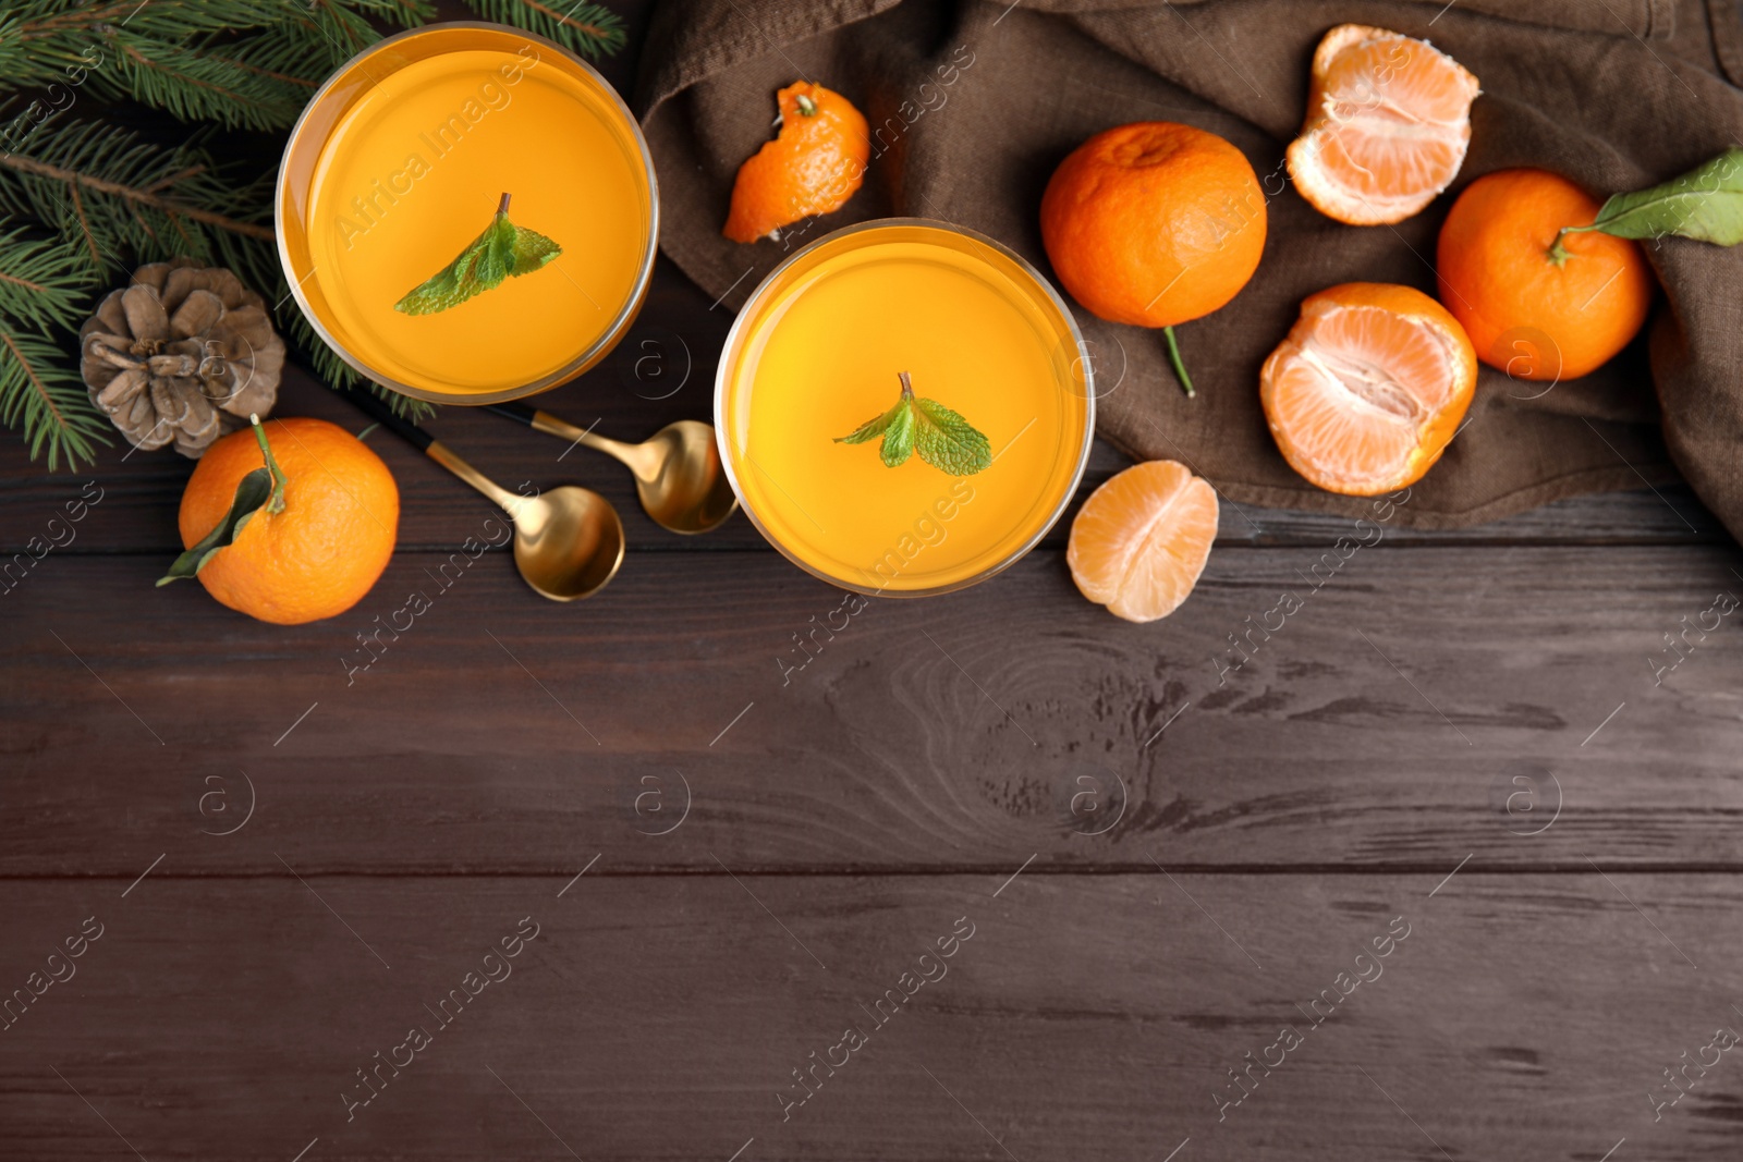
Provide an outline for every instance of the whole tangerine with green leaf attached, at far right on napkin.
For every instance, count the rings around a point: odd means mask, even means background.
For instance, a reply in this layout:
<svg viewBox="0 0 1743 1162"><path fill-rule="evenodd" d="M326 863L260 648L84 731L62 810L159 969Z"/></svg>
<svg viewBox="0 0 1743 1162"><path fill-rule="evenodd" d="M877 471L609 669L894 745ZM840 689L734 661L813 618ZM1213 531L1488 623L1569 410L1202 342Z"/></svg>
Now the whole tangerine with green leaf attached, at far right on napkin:
<svg viewBox="0 0 1743 1162"><path fill-rule="evenodd" d="M1640 331L1652 272L1640 247L1590 226L1598 202L1560 174L1502 169L1454 202L1434 256L1440 301L1476 357L1522 380L1574 380Z"/></svg>

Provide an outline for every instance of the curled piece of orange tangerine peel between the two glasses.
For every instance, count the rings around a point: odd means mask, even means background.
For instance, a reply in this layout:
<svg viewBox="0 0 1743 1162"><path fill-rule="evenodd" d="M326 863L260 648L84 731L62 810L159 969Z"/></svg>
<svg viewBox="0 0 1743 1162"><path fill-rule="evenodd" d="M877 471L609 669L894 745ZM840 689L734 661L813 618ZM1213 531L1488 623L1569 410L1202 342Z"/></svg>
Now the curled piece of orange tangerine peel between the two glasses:
<svg viewBox="0 0 1743 1162"><path fill-rule="evenodd" d="M776 94L781 132L739 166L722 230L734 242L776 235L800 218L838 211L872 160L866 118L852 101L800 80Z"/></svg>

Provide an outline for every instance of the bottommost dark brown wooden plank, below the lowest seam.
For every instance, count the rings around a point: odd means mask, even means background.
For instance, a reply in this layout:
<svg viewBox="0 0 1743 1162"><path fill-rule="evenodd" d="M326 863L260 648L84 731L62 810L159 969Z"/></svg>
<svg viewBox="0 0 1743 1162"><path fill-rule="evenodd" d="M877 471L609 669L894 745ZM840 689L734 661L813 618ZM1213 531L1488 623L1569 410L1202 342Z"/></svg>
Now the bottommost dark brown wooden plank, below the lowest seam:
<svg viewBox="0 0 1743 1162"><path fill-rule="evenodd" d="M37 1162L1738 1157L1743 1057L1703 1052L1743 1028L1736 876L1006 883L1027 854L943 878L601 861L565 894L282 866L125 899L131 875L3 882L7 988L84 918L103 936L0 1033L0 1125ZM537 937L486 963L523 918ZM885 990L913 995L878 1024ZM411 1028L425 1047L396 1049ZM376 1052L403 1063L380 1092L357 1078ZM786 1110L812 1052L838 1068ZM1717 1064L1656 1108L1684 1052ZM1248 1054L1272 1068L1225 1106Z"/></svg>

